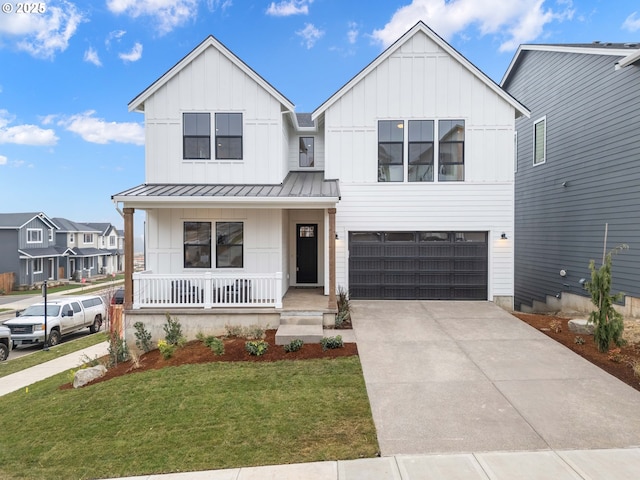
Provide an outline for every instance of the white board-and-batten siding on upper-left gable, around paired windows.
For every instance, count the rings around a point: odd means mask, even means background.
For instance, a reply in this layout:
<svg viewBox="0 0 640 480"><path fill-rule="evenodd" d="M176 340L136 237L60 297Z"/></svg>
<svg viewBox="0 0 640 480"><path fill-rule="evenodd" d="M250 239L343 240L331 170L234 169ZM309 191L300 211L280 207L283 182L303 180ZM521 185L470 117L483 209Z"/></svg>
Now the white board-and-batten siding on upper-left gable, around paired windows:
<svg viewBox="0 0 640 480"><path fill-rule="evenodd" d="M286 175L282 105L209 47L146 99L147 183L279 183ZM211 159L183 159L182 114L211 114ZM215 160L215 113L242 113L242 160Z"/></svg>

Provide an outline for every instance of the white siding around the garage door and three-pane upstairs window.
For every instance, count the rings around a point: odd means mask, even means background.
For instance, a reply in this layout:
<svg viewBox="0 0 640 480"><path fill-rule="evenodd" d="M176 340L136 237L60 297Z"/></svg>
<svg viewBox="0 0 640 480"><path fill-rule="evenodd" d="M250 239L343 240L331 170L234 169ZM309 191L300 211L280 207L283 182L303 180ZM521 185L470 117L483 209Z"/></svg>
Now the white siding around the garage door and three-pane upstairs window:
<svg viewBox="0 0 640 480"><path fill-rule="evenodd" d="M465 121L464 181L379 183L378 121L442 119ZM487 231L489 299L513 295L513 105L418 32L324 121L326 177L340 179L338 285L348 282L349 232ZM405 178L406 163L405 153ZM502 232L510 240L499 240Z"/></svg>

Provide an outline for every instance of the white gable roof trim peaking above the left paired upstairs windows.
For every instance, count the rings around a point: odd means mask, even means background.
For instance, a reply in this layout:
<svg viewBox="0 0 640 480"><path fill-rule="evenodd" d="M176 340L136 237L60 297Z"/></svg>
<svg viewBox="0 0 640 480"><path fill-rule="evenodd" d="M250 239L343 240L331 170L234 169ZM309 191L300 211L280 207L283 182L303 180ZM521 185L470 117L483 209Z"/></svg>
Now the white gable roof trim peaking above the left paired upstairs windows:
<svg viewBox="0 0 640 480"><path fill-rule="evenodd" d="M182 60L176 63L173 67L171 67L168 71L166 71L160 78L158 78L155 82L153 82L149 87L147 87L142 93L140 93L136 98L129 102L129 111L144 111L144 103L145 101L153 95L156 91L158 91L162 86L164 86L169 80L171 80L175 75L177 75L183 68L189 65L196 57L202 54L207 48L213 47L218 50L222 55L224 55L227 59L229 59L232 63L234 63L240 70L242 70L245 74L251 77L256 83L258 83L262 88L268 91L271 95L273 95L282 105L285 106L286 110L291 112L294 111L294 105L291 101L285 97L282 93L280 93L273 85L267 82L264 78L258 75L255 70L253 70L249 65L244 63L240 58L238 58L231 50L229 50L226 46L222 44L218 39L216 39L213 35L209 35L205 38L200 45L191 50Z"/></svg>

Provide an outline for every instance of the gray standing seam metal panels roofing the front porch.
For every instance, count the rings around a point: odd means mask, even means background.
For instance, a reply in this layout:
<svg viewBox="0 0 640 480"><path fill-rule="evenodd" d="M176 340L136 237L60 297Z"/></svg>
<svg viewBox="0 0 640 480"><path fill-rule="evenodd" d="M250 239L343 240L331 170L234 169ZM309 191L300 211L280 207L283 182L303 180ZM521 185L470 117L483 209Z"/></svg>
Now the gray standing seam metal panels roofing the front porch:
<svg viewBox="0 0 640 480"><path fill-rule="evenodd" d="M166 201L171 198L181 200L240 200L265 199L289 201L309 199L334 201L340 199L338 180L325 180L324 172L289 172L280 184L167 184L145 183L130 188L111 197L117 202L145 200Z"/></svg>

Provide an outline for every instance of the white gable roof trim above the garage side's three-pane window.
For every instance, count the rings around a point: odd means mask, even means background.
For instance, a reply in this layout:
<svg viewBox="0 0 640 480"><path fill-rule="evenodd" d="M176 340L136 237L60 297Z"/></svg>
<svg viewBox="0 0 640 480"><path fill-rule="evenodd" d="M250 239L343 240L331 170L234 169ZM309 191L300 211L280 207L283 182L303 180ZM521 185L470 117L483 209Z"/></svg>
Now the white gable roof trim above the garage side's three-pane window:
<svg viewBox="0 0 640 480"><path fill-rule="evenodd" d="M320 117L329 107L331 107L331 105L337 102L345 93L351 90L357 83L361 82L371 71L377 68L378 65L380 65L387 58L393 55L397 50L399 50L402 47L402 45L404 45L417 32L423 32L427 37L429 37L433 42L435 42L440 48L442 48L442 50L444 50L451 57L456 59L463 67L465 67L469 72L471 72L472 75L476 76L481 82L483 82L487 87L489 87L489 89L491 89L494 93L496 93L499 97L501 97L507 103L512 105L518 115L529 116L530 112L529 110L527 110L527 108L524 105L522 105L515 98L509 95L509 93L503 90L497 83L491 80L491 78L489 78L484 72L482 72L473 63L467 60L461 53L459 53L455 48L449 45L437 33L431 30L422 21L419 21L402 37L396 40L396 42L393 43L389 48L387 48L384 52L378 55L378 57L375 58L369 65L367 65L364 69L362 69L360 73L358 73L355 77L349 80L349 82L347 82L342 88L340 88L340 90L334 93L322 105L320 105L317 109L315 109L312 114L312 118L315 120L318 117Z"/></svg>

